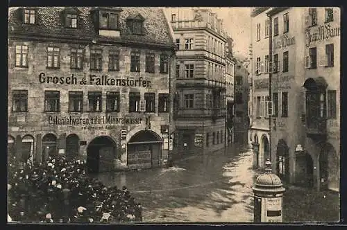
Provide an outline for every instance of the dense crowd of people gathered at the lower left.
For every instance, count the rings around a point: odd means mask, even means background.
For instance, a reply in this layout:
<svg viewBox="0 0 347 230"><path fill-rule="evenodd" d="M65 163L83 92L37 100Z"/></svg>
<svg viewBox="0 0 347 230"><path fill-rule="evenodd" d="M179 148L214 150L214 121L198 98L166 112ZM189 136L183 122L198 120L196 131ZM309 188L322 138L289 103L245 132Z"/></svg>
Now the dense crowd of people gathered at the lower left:
<svg viewBox="0 0 347 230"><path fill-rule="evenodd" d="M85 161L51 158L33 166L8 162L8 221L140 222L141 204L126 186L88 177Z"/></svg>

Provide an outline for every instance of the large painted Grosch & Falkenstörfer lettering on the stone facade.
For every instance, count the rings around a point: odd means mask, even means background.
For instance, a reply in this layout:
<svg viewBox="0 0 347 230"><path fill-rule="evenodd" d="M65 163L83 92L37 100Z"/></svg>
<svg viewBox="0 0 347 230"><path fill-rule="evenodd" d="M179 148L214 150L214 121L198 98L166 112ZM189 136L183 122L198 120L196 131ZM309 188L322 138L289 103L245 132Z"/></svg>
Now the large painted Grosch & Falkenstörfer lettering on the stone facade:
<svg viewBox="0 0 347 230"><path fill-rule="evenodd" d="M44 84L67 84L67 85L100 85L100 86L126 86L126 87L144 87L151 88L151 81L139 77L133 78L112 78L107 75L90 75L89 78L83 77L78 80L74 74L67 77L46 76L45 73L39 74L39 82Z"/></svg>

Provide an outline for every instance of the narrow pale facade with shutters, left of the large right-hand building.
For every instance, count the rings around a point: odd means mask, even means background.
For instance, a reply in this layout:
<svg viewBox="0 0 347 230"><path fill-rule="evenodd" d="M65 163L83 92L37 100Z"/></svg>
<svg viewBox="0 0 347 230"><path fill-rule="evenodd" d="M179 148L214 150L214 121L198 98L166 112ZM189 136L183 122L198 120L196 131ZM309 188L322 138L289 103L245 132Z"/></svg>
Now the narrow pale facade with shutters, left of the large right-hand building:
<svg viewBox="0 0 347 230"><path fill-rule="evenodd" d="M253 167L263 168L266 159L270 159L269 114L265 106L269 105L269 7L255 8L251 12L251 97L252 118L250 141L253 145ZM263 64L262 64L263 63Z"/></svg>

